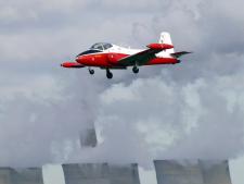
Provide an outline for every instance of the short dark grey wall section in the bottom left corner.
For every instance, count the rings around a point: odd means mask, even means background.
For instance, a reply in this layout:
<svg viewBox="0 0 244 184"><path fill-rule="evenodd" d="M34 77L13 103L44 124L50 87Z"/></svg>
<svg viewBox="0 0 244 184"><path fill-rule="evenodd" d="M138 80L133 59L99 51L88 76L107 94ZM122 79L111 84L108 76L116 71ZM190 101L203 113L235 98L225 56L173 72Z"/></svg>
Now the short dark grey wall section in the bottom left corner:
<svg viewBox="0 0 244 184"><path fill-rule="evenodd" d="M0 168L0 184L43 184L40 168Z"/></svg>

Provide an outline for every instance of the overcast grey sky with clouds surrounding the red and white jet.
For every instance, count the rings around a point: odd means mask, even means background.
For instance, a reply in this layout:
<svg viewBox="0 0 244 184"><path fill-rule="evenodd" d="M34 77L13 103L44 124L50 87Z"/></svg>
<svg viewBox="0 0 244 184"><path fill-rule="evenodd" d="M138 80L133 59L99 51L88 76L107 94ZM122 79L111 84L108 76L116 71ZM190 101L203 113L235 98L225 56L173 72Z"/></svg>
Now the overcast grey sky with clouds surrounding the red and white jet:
<svg viewBox="0 0 244 184"><path fill-rule="evenodd" d="M244 154L244 1L0 1L0 165L232 159ZM178 65L61 69L97 41L144 48L169 32ZM79 150L95 124L101 145ZM241 170L241 169L240 169ZM243 182L242 182L243 183Z"/></svg>

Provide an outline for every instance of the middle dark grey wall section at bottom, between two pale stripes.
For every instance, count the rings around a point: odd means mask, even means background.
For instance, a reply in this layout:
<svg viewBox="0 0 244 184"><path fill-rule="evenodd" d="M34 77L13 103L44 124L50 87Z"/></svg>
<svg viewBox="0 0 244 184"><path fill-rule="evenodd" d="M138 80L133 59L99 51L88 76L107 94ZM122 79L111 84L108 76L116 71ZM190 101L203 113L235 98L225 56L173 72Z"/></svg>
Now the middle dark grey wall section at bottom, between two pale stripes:
<svg viewBox="0 0 244 184"><path fill-rule="evenodd" d="M140 184L138 165L63 164L66 184Z"/></svg>

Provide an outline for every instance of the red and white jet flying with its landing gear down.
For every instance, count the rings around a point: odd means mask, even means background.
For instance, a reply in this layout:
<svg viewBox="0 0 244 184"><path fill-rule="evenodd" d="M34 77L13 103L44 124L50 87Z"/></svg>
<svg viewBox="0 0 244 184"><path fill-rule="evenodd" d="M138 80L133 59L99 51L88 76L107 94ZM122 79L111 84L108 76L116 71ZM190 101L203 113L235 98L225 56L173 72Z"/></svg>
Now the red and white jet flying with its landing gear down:
<svg viewBox="0 0 244 184"><path fill-rule="evenodd" d="M147 49L129 49L107 42L94 44L89 50L77 56L76 62L64 62L63 68L85 68L94 74L92 68L106 70L106 77L112 78L113 69L132 66L133 73L139 73L139 66L155 64L176 64L187 51L175 52L169 33L162 33L158 44L150 44Z"/></svg>

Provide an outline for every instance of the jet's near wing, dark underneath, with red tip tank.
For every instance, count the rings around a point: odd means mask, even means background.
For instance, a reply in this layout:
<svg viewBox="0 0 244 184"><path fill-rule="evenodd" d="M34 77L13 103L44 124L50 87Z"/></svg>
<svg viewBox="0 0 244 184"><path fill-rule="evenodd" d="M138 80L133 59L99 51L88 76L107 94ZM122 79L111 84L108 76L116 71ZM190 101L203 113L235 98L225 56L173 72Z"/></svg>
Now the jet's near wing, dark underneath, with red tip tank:
<svg viewBox="0 0 244 184"><path fill-rule="evenodd" d="M166 44L151 44L146 47L149 47L149 49L131 54L129 57L123 58L118 61L118 63L125 66L134 65L134 63L137 63L138 65L143 65L149 60L155 58L156 53L166 49L174 48L174 46L166 45Z"/></svg>

